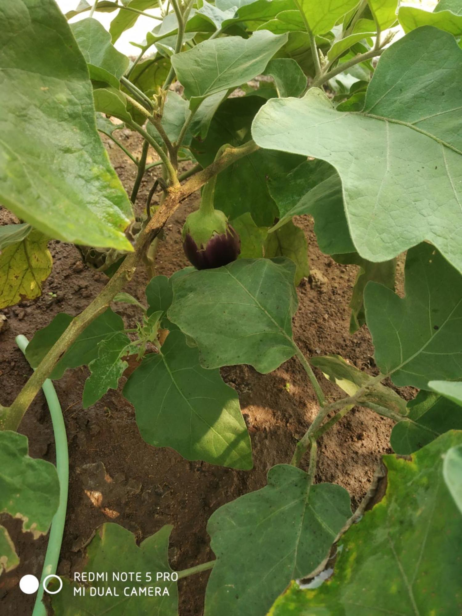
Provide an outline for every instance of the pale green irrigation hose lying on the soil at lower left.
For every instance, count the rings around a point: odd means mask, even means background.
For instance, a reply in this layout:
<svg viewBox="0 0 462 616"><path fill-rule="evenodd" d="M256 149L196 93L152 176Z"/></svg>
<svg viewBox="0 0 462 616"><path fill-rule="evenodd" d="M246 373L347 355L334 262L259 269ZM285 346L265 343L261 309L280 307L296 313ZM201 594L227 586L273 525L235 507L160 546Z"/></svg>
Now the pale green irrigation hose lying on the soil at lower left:
<svg viewBox="0 0 462 616"><path fill-rule="evenodd" d="M16 344L25 354L28 339L23 336L16 336ZM46 379L43 384L43 393L45 394L48 408L50 410L51 421L53 424L53 432L56 445L56 470L59 478L59 505L51 522L50 536L48 538L48 546L43 563L40 585L38 587L37 596L35 599L34 610L32 616L46 616L47 612L42 602L43 597L43 581L47 575L54 575L58 565L59 553L61 551L61 543L63 540L64 522L66 519L67 508L67 493L69 485L69 455L67 451L67 434L64 425L63 413L58 397L50 379Z"/></svg>

